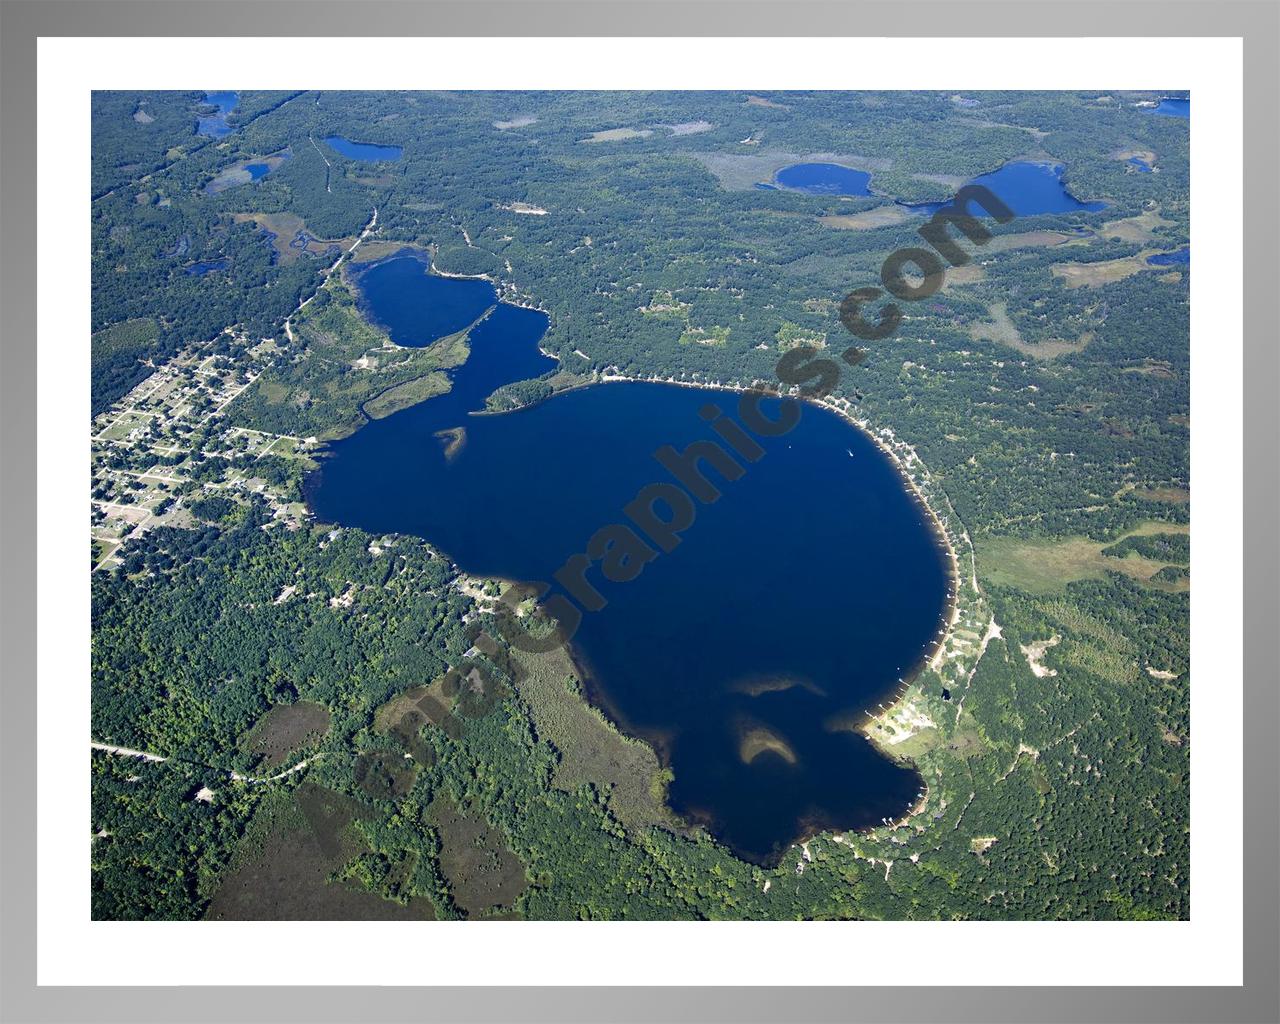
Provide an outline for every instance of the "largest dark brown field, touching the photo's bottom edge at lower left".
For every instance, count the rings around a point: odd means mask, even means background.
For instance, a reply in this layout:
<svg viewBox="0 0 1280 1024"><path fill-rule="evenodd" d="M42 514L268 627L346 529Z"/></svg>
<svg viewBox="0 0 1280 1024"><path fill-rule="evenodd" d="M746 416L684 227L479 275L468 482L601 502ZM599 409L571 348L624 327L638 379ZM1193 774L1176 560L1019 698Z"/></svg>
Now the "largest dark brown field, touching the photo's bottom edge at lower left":
<svg viewBox="0 0 1280 1024"><path fill-rule="evenodd" d="M364 844L352 823L364 808L303 782L264 800L205 916L209 920L430 920L422 899L407 906L349 882L330 882Z"/></svg>

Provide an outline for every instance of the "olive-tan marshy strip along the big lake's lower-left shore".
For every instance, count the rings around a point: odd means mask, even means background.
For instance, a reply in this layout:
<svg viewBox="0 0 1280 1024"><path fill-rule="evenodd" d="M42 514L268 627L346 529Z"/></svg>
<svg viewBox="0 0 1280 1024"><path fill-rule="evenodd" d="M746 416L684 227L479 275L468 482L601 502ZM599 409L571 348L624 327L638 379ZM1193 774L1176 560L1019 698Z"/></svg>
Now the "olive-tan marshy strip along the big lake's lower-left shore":
<svg viewBox="0 0 1280 1024"><path fill-rule="evenodd" d="M524 678L516 681L538 735L559 753L554 785L572 791L593 783L608 794L609 809L626 827L671 824L666 806L669 776L657 754L620 733L581 692L577 671L563 649L547 654L512 652Z"/></svg>

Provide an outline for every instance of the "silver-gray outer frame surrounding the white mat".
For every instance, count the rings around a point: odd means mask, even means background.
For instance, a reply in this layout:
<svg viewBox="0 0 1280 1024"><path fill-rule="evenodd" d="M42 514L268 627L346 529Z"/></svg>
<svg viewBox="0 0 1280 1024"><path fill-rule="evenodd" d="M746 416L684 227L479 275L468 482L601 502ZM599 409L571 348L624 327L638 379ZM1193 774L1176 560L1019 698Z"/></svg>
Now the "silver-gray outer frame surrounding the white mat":
<svg viewBox="0 0 1280 1024"><path fill-rule="evenodd" d="M311 3L0 0L0 1018L4 1020L1280 1020L1275 0ZM38 36L1239 36L1244 38L1243 988L36 988L36 38ZM974 54L956 46L957 67ZM1100 72L1105 69L1098 69ZM1170 69L1169 86L1178 69ZM81 415L77 408L69 415ZM1230 681L1224 681L1226 685ZM1213 685L1201 675L1198 685ZM82 882L87 879L81 879ZM68 879L68 884L76 884ZM209 925L216 927L216 925ZM714 925L707 925L714 928ZM957 924L957 932L969 925ZM1064 925L1070 927L1070 925ZM1142 941L1135 924L1134 941ZM762 936L763 941L763 936ZM961 938L961 941L965 941ZM970 941L979 941L973 932ZM269 954L279 955L279 954ZM657 955L657 954L655 954ZM925 965L931 951L905 950ZM1088 950L1082 950L1088 956ZM1069 965L1064 965L1069 969ZM659 964L653 965L655 974ZM1010 978L1010 982L1016 982Z"/></svg>

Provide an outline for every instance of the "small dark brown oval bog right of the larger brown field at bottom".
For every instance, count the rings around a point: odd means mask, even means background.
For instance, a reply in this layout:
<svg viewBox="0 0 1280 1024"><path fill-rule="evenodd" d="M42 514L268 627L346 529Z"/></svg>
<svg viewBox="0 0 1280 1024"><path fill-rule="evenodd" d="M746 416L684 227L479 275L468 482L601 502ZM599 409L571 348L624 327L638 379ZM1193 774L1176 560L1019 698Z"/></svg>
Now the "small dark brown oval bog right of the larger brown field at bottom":
<svg viewBox="0 0 1280 1024"><path fill-rule="evenodd" d="M529 879L502 833L460 812L443 794L431 801L428 813L440 831L440 872L458 909L475 916L509 908Z"/></svg>

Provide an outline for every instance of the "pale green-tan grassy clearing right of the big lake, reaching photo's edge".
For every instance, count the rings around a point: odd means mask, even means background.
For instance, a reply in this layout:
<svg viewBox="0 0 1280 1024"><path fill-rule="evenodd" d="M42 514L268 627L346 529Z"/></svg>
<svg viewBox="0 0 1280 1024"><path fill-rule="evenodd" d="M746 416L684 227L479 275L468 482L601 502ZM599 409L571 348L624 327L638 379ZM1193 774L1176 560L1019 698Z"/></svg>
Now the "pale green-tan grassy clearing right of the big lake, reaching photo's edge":
<svg viewBox="0 0 1280 1024"><path fill-rule="evenodd" d="M1189 584L1153 579L1167 562L1146 558L1137 552L1115 558L1103 548L1126 538L1152 534L1185 534L1189 527L1169 522L1144 522L1112 540L1091 540L1083 536L1025 540L1023 538L987 538L978 540L979 575L1001 586L1014 586L1029 594L1060 593L1076 580L1101 580L1107 572L1123 572L1130 579L1164 590L1187 590Z"/></svg>

